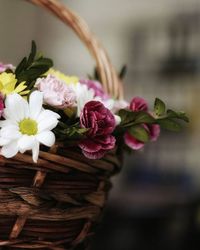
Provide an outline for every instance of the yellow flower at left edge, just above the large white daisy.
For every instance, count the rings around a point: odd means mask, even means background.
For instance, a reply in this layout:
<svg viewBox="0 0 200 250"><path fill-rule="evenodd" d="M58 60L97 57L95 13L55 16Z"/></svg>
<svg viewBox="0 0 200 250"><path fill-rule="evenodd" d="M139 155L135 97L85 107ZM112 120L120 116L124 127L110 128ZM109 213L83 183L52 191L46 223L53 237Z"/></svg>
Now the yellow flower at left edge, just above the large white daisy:
<svg viewBox="0 0 200 250"><path fill-rule="evenodd" d="M26 82L21 82L17 87L17 79L13 73L2 73L0 74L0 92L3 95L9 95L11 93L18 93L20 95L26 95L29 93L29 90L26 89ZM25 90L25 91L24 91Z"/></svg>

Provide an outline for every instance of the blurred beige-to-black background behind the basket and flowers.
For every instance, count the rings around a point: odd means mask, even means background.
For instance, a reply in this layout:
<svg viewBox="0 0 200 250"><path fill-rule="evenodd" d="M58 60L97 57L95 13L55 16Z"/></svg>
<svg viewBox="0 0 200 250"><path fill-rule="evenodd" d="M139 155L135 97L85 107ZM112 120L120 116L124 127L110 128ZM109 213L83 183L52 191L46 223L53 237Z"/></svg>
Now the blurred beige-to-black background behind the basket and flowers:
<svg viewBox="0 0 200 250"><path fill-rule="evenodd" d="M104 44L115 67L128 66L125 96L155 97L185 110L190 124L125 157L93 250L200 249L199 0L63 0ZM55 68L91 74L77 37L22 0L0 0L0 61L16 64L35 40Z"/></svg>

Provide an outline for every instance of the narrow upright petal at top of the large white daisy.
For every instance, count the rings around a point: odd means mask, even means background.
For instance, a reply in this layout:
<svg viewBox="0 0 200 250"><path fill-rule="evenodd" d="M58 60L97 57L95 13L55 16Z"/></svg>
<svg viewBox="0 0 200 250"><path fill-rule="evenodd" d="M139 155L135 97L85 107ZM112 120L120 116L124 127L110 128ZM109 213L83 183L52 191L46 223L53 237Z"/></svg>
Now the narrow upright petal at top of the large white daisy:
<svg viewBox="0 0 200 250"><path fill-rule="evenodd" d="M43 104L43 93L40 91L34 91L30 95L29 99L30 118L37 119L38 115L42 110L42 104Z"/></svg>

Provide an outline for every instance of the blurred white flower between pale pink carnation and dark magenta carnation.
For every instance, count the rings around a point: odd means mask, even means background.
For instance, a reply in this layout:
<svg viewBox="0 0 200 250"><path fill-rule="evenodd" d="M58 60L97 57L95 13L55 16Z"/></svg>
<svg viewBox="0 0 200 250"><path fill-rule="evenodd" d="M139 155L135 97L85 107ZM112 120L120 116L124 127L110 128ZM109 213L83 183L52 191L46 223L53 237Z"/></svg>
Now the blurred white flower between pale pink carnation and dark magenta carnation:
<svg viewBox="0 0 200 250"><path fill-rule="evenodd" d="M78 117L80 116L81 111L83 110L87 102L92 100L100 101L99 97L95 97L94 90L89 89L85 84L81 84L78 82L77 84L70 84L70 86L76 94Z"/></svg>

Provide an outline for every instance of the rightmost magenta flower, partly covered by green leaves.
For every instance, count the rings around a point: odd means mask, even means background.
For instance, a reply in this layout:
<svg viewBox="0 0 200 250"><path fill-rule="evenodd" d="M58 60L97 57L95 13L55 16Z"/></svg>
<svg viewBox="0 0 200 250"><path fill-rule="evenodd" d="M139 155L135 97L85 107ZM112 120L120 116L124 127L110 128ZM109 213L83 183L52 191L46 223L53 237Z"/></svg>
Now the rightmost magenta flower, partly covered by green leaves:
<svg viewBox="0 0 200 250"><path fill-rule="evenodd" d="M146 111L148 112L147 102L140 97L135 97L130 103L130 110L132 111ZM158 124L143 124L143 127L148 131L150 140L156 141L160 135L160 126ZM124 141L133 150L139 150L144 147L144 142L137 140L129 132L126 132L124 135Z"/></svg>

